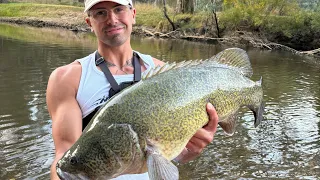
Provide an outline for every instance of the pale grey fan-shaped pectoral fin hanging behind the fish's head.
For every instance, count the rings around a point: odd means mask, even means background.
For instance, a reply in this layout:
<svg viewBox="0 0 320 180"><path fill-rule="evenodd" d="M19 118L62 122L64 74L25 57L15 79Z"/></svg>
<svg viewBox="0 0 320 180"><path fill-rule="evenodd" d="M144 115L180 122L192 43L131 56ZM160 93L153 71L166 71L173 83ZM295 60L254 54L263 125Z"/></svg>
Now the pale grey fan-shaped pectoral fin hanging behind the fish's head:
<svg viewBox="0 0 320 180"><path fill-rule="evenodd" d="M149 149L149 148L148 148ZM147 166L150 180L178 180L178 168L157 151L147 153Z"/></svg>

